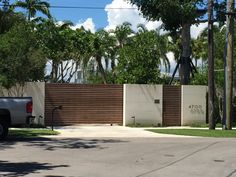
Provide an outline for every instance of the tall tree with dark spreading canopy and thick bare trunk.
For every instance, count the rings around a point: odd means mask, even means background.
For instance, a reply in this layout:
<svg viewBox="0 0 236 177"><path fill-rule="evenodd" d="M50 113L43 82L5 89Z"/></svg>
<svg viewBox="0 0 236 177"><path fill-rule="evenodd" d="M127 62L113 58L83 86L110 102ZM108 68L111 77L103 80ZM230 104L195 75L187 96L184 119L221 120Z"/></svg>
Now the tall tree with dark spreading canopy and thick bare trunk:
<svg viewBox="0 0 236 177"><path fill-rule="evenodd" d="M181 34L180 80L188 84L191 72L190 27L205 13L203 0L129 0L150 20L162 20L164 28Z"/></svg>

